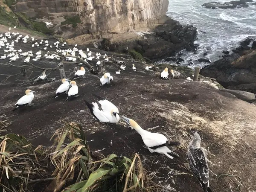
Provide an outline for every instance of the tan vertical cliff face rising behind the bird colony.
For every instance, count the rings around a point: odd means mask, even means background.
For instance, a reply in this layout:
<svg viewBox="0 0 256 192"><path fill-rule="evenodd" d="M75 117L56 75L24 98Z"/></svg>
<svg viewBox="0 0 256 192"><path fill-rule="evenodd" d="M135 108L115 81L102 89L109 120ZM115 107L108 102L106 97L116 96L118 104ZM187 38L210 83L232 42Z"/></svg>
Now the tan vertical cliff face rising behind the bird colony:
<svg viewBox="0 0 256 192"><path fill-rule="evenodd" d="M52 21L53 29L64 38L83 35L87 41L151 29L165 16L168 4L168 0L17 0L12 8L38 21ZM75 21L61 24L74 16Z"/></svg>

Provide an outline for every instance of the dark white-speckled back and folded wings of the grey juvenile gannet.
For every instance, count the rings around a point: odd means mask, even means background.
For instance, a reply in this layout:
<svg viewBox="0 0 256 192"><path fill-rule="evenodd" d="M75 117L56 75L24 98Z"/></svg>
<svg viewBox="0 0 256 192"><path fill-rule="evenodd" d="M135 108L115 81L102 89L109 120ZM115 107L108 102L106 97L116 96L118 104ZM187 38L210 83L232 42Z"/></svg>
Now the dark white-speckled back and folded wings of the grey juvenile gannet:
<svg viewBox="0 0 256 192"><path fill-rule="evenodd" d="M206 191L209 183L209 168L204 151L201 148L190 148L187 155L192 172Z"/></svg>

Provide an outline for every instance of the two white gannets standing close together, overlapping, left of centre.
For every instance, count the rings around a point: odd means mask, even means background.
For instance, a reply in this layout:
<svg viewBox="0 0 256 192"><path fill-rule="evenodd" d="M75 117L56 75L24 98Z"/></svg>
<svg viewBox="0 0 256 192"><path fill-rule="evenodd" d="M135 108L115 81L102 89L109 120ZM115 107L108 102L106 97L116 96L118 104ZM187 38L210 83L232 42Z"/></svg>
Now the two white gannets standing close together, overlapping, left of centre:
<svg viewBox="0 0 256 192"><path fill-rule="evenodd" d="M56 90L55 98L62 94L67 94L67 101L78 96L78 86L76 85L76 81L70 81L69 79L62 79L61 81L62 84ZM70 83L68 81L70 81Z"/></svg>

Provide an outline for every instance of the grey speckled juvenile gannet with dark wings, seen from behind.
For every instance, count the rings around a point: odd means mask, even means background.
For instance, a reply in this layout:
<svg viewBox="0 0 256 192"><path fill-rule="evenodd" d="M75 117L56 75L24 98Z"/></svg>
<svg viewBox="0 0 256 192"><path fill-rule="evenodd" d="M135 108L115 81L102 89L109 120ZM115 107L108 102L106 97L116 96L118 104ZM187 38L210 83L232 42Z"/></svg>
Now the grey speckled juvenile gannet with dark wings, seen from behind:
<svg viewBox="0 0 256 192"><path fill-rule="evenodd" d="M195 132L192 141L189 143L187 157L189 167L199 180L204 192L212 192L209 188L209 168L204 149L201 148L201 137Z"/></svg>

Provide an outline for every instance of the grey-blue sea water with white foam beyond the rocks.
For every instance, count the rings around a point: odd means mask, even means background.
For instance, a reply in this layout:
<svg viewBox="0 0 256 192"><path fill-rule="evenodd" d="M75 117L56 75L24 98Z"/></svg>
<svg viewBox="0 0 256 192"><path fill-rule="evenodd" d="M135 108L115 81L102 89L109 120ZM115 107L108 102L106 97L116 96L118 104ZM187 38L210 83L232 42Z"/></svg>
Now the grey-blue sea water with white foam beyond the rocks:
<svg viewBox="0 0 256 192"><path fill-rule="evenodd" d="M204 66L207 63L199 63L198 58L207 58L216 61L223 55L222 51L239 46L239 41L245 38L253 38L256 41L256 5L239 9L206 9L202 7L208 2L228 2L230 0L169 0L166 15L180 22L180 24L192 24L198 29L199 44L198 53L183 50L185 61L182 65L194 62L190 67ZM256 0L254 0L256 1ZM204 52L208 55L204 56Z"/></svg>

